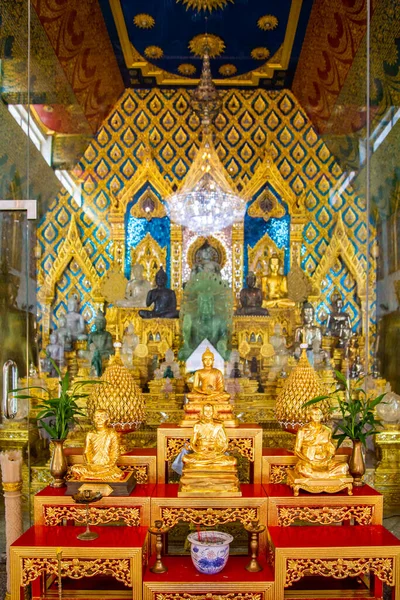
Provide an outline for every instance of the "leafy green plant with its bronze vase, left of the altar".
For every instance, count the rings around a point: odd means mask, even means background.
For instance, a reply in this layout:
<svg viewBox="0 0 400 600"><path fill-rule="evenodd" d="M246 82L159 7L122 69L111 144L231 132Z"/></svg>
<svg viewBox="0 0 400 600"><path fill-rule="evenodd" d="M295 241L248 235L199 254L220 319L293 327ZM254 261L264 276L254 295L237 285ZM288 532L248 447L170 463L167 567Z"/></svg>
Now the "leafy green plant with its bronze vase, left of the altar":
<svg viewBox="0 0 400 600"><path fill-rule="evenodd" d="M87 398L88 393L82 391L85 385L98 383L98 381L76 381L71 385L70 374L68 371L63 375L58 365L48 357L58 376L59 396L51 397L51 393L44 387L32 386L12 390L17 392L16 398L32 399L36 398L33 394L20 394L24 390L39 389L48 395L48 398L41 399L38 408L40 412L37 416L40 425L49 434L53 443L53 453L50 461L50 473L53 477L52 487L63 487L64 478L67 472L67 461L65 460L63 445L68 436L71 425L77 423L77 417L84 416L85 412L78 406L78 400Z"/></svg>

